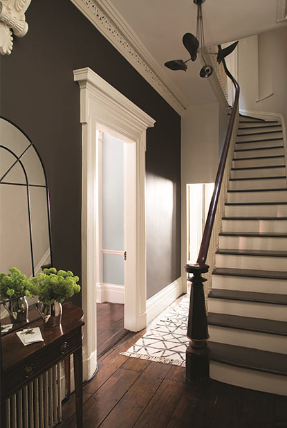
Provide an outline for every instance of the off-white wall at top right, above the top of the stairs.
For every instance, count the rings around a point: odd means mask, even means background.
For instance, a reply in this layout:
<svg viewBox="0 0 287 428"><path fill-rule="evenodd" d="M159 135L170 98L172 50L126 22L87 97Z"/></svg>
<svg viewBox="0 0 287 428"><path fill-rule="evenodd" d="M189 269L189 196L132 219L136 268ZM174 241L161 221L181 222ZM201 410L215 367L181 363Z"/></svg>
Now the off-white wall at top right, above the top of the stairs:
<svg viewBox="0 0 287 428"><path fill-rule="evenodd" d="M239 41L240 108L287 119L287 27Z"/></svg>

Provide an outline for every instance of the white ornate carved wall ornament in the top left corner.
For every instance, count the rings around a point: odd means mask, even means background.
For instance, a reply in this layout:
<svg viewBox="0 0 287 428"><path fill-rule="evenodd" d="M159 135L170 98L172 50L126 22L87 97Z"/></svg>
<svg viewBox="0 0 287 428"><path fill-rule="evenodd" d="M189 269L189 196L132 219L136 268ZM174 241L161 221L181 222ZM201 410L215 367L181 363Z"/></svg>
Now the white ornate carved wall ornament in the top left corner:
<svg viewBox="0 0 287 428"><path fill-rule="evenodd" d="M25 12L31 0L0 1L0 53L10 55L13 37L24 37L28 31Z"/></svg>

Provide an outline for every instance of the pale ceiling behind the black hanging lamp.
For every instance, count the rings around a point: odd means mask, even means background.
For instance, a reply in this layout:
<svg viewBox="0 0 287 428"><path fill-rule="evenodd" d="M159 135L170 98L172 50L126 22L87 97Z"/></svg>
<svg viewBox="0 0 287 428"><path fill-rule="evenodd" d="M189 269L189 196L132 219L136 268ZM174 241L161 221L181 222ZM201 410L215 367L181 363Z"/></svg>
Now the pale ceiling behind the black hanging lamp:
<svg viewBox="0 0 287 428"><path fill-rule="evenodd" d="M203 3L205 44L214 45L279 28L277 1L206 0ZM162 71L190 105L214 102L208 79L199 77L201 62L189 62L187 72L171 71L168 60L187 60L185 33L196 34L197 7L192 0L110 0ZM286 25L286 24L285 24Z"/></svg>

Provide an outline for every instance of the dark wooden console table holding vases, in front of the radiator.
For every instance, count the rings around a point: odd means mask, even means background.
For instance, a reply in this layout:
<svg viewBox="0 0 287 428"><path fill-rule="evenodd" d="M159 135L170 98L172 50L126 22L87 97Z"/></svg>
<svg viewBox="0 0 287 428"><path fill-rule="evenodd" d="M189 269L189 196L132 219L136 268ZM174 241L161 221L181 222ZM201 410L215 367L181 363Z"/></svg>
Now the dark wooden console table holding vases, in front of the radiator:
<svg viewBox="0 0 287 428"><path fill-rule="evenodd" d="M75 377L75 404L77 428L82 428L82 321L84 313L80 307L63 303L61 326L44 327L39 319L29 328L39 327L43 342L24 346L12 332L1 338L1 427L6 428L6 400L36 377L55 364L73 354Z"/></svg>

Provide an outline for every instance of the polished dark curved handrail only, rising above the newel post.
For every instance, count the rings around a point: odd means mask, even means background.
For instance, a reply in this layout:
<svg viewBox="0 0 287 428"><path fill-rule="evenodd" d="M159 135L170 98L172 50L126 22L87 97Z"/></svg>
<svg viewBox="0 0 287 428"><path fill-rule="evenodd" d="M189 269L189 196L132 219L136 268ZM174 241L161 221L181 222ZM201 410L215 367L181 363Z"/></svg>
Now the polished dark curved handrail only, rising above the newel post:
<svg viewBox="0 0 287 428"><path fill-rule="evenodd" d="M199 249L198 258L196 261L196 263L199 266L205 265L205 261L206 261L207 253L208 253L208 248L210 247L210 237L212 234L212 227L214 224L217 203L219 202L219 194L220 194L223 174L224 174L224 170L225 170L225 163L226 163L226 159L228 157L228 150L229 150L229 146L230 146L235 116L237 114L237 107L238 107L238 102L239 102L239 90L240 90L239 84L234 79L234 77L232 76L230 71L228 70L224 59L223 59L223 67L225 69L225 73L228 75L228 77L230 78L230 80L234 84L235 97L234 97L234 103L233 103L233 107L232 107L232 114L230 116L230 121L228 124L228 130L227 130L226 136L225 136L223 151L221 153L221 160L220 160L219 168L218 168L217 174L216 174L216 179L215 179L215 184L214 184L214 192L213 192L212 199L210 202L210 209L208 211L207 220L205 222L205 228L203 231L203 238L201 240L201 248Z"/></svg>

